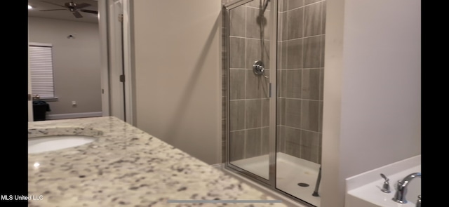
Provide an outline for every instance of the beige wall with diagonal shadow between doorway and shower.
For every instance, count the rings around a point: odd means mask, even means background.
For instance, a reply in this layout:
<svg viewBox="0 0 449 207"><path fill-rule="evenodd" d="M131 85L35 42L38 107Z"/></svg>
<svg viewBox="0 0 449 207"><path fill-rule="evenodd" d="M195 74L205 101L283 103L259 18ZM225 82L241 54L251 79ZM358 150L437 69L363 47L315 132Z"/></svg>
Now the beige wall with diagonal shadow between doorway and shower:
<svg viewBox="0 0 449 207"><path fill-rule="evenodd" d="M220 0L133 1L136 126L220 162Z"/></svg>

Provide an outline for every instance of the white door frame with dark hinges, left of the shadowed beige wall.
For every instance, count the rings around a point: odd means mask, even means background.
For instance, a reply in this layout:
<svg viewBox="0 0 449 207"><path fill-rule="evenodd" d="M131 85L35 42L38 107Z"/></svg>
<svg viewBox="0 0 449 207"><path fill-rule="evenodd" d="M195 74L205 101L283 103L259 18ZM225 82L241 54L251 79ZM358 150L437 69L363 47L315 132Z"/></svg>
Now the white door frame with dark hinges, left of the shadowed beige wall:
<svg viewBox="0 0 449 207"><path fill-rule="evenodd" d="M100 65L101 65L101 86L102 86L102 116L116 116L131 125L135 125L133 121L133 69L131 55L131 22L129 0L119 0L121 8L118 8L114 1L98 0L98 26L100 29ZM112 39L111 22L117 17L113 11L117 10L123 13L123 48L122 53L111 53L112 48L121 48L121 41ZM103 18L104 17L104 18ZM119 45L120 44L120 45ZM109 60L123 59L123 64L112 62ZM124 83L119 79L111 80L113 69L121 69L123 65ZM120 71L120 73L122 73ZM120 86L123 84L123 86ZM120 88L120 89L117 89ZM123 90L122 90L123 89ZM123 94L124 93L124 94ZM114 105L112 105L114 102ZM118 103L118 104L117 104Z"/></svg>

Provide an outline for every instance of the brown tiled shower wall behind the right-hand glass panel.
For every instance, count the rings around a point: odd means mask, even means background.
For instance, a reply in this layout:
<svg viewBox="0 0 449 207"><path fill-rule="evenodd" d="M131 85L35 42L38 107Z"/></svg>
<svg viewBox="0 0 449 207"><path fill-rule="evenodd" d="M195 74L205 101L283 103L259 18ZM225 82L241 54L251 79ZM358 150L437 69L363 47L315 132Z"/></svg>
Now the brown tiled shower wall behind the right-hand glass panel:
<svg viewBox="0 0 449 207"><path fill-rule="evenodd" d="M321 163L326 1L279 1L276 148Z"/></svg>

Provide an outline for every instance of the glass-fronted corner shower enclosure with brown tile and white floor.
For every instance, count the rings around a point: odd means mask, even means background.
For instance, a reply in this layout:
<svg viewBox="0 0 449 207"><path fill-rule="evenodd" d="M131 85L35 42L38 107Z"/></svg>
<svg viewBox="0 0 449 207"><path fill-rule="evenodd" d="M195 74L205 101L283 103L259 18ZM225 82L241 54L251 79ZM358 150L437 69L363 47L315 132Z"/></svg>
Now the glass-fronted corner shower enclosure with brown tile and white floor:
<svg viewBox="0 0 449 207"><path fill-rule="evenodd" d="M320 206L326 1L222 9L225 169Z"/></svg>

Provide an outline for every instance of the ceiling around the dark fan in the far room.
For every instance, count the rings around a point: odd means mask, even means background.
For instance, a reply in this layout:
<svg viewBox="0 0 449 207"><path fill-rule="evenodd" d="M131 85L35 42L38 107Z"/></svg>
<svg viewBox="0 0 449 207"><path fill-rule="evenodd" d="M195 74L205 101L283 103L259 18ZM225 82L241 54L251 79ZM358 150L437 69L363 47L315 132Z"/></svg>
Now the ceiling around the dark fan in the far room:
<svg viewBox="0 0 449 207"><path fill-rule="evenodd" d="M48 4L46 2L51 2L53 4ZM28 5L32 6L32 9L28 10L28 16L39 17L39 18L52 18L58 20L72 20L79 22L95 22L98 23L97 15L93 13L81 12L83 18L75 18L75 16L69 10L58 10L58 11L40 11L44 9L64 9L64 4L71 2L72 0L28 0ZM98 0L73 0L75 4L87 3L91 6L85 7L83 9L98 11ZM58 4L60 6L54 5Z"/></svg>

